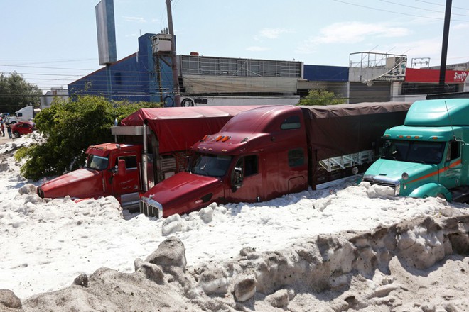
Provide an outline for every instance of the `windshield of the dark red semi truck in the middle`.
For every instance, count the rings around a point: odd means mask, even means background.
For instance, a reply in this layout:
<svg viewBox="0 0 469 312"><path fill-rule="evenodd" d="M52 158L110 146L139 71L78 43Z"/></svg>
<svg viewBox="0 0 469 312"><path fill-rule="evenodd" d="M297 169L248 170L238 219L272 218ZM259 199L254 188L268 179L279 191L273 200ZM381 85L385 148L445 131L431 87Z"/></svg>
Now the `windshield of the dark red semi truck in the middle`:
<svg viewBox="0 0 469 312"><path fill-rule="evenodd" d="M209 177L223 177L230 167L232 157L225 155L198 154L189 165L189 172Z"/></svg>

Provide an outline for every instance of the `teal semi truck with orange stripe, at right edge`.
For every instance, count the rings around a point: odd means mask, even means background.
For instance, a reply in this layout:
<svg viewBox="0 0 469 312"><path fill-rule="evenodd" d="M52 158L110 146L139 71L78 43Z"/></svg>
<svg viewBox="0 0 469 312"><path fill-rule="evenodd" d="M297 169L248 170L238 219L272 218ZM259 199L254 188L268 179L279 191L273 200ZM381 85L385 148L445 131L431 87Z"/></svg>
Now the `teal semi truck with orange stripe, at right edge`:
<svg viewBox="0 0 469 312"><path fill-rule="evenodd" d="M365 182L390 186L396 196L469 200L469 99L416 101L404 125L387 129L383 139Z"/></svg>

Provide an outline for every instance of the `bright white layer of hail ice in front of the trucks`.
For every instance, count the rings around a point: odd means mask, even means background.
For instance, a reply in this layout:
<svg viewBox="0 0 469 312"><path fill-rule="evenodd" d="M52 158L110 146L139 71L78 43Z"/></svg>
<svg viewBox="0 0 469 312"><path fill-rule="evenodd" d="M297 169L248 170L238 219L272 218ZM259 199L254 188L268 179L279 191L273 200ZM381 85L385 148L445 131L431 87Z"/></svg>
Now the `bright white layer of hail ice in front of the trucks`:
<svg viewBox="0 0 469 312"><path fill-rule="evenodd" d="M188 266L212 263L217 267L217 263L238 257L240 250L282 250L316 235L372 231L419 216L438 216L450 206L436 198L394 197L389 189L366 183L340 184L264 203L213 203L188 215L157 220L122 211L112 196L82 201L68 196L39 198L36 186L41 182L23 179L20 164L13 158L14 150L37 140L37 135L25 135L0 145L0 289L11 289L21 299L62 289L80 274L91 274L99 267L134 272L134 260L145 259L170 236L185 246ZM451 207L468 213L465 205ZM420 244L422 250L431 250L442 239L415 228L399 242L403 249ZM344 260L350 250L343 252ZM338 259L337 250L330 253ZM351 262L339 261L337 265L347 272ZM201 279L198 287L214 293L226 291L227 272L220 268L215 275ZM247 277L240 283L252 282ZM340 279L337 282L340 284ZM392 291L373 288L379 296ZM269 300L286 300L288 294Z"/></svg>

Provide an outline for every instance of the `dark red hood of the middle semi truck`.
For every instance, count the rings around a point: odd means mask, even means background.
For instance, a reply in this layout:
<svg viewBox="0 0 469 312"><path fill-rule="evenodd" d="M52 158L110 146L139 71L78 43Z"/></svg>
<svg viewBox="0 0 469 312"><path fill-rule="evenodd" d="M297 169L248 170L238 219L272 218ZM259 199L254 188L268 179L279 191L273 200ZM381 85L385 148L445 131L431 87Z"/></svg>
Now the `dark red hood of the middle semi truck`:
<svg viewBox="0 0 469 312"><path fill-rule="evenodd" d="M179 172L153 186L142 198L158 201L163 217L167 217L195 211L213 201L223 202L225 194L221 179Z"/></svg>

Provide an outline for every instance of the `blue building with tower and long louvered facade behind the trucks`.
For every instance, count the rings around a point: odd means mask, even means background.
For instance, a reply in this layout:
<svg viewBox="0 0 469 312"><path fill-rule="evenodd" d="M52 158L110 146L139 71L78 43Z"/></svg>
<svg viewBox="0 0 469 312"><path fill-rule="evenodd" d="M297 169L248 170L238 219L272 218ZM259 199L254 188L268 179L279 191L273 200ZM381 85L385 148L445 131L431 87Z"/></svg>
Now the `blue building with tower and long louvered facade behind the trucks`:
<svg viewBox="0 0 469 312"><path fill-rule="evenodd" d="M90 94L173 106L169 38L142 35L138 52L72 82L70 96ZM328 89L345 97L349 75L348 67L199 55L178 56L178 72L183 106L226 105L235 103L233 99L246 104L296 104L310 89Z"/></svg>

